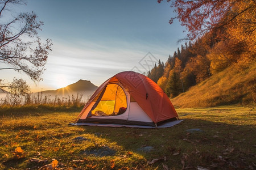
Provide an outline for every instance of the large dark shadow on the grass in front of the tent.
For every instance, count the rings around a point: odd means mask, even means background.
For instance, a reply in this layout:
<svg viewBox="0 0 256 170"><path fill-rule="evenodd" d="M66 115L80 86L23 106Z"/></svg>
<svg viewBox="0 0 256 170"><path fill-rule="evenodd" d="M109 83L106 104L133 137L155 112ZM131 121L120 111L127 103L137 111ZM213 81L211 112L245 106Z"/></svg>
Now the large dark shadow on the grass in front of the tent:
<svg viewBox="0 0 256 170"><path fill-rule="evenodd" d="M251 137L251 134L256 134L253 125L186 119L165 129L97 126L84 126L83 129L95 135L95 138L106 139L108 143L115 142L125 152L143 155L148 162L159 159L154 163L155 167L164 163L177 169L196 169L197 166L209 169L256 168L256 140ZM108 143L105 145L108 146ZM153 149L143 150L147 146ZM166 158L166 161L162 158Z"/></svg>

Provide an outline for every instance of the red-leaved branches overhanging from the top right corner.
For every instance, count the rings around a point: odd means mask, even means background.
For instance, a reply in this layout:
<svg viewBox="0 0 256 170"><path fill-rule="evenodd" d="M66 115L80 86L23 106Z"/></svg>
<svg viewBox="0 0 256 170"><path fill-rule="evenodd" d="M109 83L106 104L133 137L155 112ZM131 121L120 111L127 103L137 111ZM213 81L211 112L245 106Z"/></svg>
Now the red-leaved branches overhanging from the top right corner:
<svg viewBox="0 0 256 170"><path fill-rule="evenodd" d="M163 0L158 0L160 3ZM250 35L255 31L255 1L254 0L167 0L171 2L176 16L170 19L170 24L175 19L188 30L187 39L194 40L205 33L218 32L228 27L237 27L237 24L249 26ZM246 15L246 16L245 16ZM251 15L249 22L237 20L246 19ZM237 23L239 22L239 23Z"/></svg>

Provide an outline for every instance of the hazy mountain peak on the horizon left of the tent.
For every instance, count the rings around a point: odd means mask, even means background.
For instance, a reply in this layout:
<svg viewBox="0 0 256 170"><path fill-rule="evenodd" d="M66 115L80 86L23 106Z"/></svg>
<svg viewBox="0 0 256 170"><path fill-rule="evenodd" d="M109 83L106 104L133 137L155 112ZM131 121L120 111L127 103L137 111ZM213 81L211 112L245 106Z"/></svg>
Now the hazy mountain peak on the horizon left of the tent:
<svg viewBox="0 0 256 170"><path fill-rule="evenodd" d="M91 83L89 80L79 80L76 83L70 84L66 87L59 88L57 90L47 90L42 92L36 92L34 93L34 96L36 95L42 95L48 96L50 99L57 97L72 97L77 96L77 94L82 95L83 99L88 99L90 95L93 94L93 92L98 87L95 86L93 83Z"/></svg>

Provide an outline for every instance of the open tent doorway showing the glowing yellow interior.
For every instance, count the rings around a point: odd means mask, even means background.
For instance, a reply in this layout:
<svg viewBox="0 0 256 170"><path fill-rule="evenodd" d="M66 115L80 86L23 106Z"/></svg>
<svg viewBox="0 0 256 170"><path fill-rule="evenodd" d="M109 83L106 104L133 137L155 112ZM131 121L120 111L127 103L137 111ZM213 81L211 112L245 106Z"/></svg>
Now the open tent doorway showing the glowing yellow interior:
<svg viewBox="0 0 256 170"><path fill-rule="evenodd" d="M116 116L126 111L127 100L121 86L108 84L106 90L102 92L93 100L98 105L92 110L92 116Z"/></svg>

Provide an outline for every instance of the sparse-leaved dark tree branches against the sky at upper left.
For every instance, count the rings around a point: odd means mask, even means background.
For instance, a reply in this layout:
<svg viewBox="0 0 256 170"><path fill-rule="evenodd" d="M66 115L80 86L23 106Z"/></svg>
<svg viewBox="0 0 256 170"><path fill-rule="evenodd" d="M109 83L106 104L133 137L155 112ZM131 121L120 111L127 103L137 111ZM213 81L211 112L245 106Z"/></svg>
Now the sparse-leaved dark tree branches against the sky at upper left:
<svg viewBox="0 0 256 170"><path fill-rule="evenodd" d="M24 5L22 0L0 1L0 70L15 70L30 76L34 81L41 75L47 62L52 42L43 42L38 36L43 22L34 12L15 15L12 8Z"/></svg>

